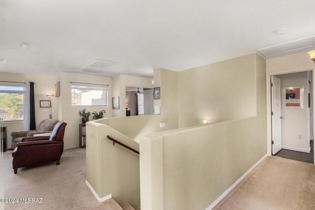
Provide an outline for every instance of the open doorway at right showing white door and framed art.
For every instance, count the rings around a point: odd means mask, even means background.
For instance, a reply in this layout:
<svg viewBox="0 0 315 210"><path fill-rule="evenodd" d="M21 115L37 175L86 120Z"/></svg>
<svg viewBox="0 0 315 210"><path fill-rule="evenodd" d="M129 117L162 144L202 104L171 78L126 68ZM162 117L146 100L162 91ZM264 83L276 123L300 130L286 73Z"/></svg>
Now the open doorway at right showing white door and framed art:
<svg viewBox="0 0 315 210"><path fill-rule="evenodd" d="M313 72L271 76L272 155L314 163Z"/></svg>

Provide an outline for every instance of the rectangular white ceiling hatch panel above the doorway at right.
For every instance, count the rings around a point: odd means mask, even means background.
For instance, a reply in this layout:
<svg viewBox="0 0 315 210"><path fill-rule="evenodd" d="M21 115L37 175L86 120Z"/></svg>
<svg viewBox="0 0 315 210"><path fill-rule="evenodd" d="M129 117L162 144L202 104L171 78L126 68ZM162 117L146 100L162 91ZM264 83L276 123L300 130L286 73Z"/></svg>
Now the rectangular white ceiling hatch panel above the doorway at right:
<svg viewBox="0 0 315 210"><path fill-rule="evenodd" d="M265 59L272 59L315 49L315 36L257 50Z"/></svg>

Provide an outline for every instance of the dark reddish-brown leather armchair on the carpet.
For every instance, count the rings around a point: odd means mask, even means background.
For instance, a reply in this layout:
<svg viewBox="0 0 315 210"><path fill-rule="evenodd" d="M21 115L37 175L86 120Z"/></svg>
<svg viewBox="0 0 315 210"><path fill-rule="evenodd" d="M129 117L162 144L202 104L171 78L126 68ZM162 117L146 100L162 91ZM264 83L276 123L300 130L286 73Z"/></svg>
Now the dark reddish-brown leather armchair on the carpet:
<svg viewBox="0 0 315 210"><path fill-rule="evenodd" d="M14 174L18 168L56 161L63 154L63 136L67 123L59 121L50 136L25 137L12 152Z"/></svg>

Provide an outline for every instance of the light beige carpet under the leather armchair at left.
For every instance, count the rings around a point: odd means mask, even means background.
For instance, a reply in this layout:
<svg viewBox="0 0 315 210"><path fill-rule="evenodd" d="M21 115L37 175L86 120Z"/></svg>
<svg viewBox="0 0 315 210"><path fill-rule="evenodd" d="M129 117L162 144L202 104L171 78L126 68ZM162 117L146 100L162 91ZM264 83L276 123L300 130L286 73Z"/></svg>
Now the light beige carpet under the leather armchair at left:
<svg viewBox="0 0 315 210"><path fill-rule="evenodd" d="M4 197L42 198L41 204L5 204L5 210L122 210L114 199L99 203L85 183L86 150L64 150L60 165L22 168L14 174L12 151L3 153Z"/></svg>

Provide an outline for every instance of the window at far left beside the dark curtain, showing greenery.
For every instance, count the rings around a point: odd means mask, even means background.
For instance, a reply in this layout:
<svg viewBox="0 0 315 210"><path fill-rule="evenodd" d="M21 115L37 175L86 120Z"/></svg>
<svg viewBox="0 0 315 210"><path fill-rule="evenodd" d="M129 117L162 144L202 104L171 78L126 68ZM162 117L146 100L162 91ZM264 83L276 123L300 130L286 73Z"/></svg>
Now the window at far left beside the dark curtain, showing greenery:
<svg viewBox="0 0 315 210"><path fill-rule="evenodd" d="M25 86L0 84L0 112L3 121L24 119Z"/></svg>

